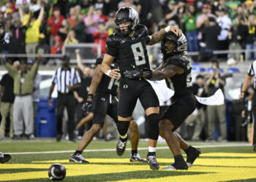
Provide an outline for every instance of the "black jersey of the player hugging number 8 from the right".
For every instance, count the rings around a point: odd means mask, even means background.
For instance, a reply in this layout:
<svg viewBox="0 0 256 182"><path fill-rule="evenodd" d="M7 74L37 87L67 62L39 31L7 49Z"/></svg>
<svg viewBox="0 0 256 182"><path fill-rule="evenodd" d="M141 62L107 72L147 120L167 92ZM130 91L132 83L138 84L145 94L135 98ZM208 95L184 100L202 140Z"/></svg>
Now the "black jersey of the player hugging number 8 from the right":
<svg viewBox="0 0 256 182"><path fill-rule="evenodd" d="M181 95L192 94L192 77L191 77L191 61L186 55L170 55L170 57L163 60L163 67L168 65L175 65L184 69L183 74L176 74L173 77L167 79L175 93L174 97Z"/></svg>

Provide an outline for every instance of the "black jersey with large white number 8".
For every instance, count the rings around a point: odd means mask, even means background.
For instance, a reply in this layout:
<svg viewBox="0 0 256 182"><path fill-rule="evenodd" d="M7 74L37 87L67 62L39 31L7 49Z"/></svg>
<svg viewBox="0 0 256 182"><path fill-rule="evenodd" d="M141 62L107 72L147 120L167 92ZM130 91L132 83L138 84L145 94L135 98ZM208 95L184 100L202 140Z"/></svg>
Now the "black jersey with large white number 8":
<svg viewBox="0 0 256 182"><path fill-rule="evenodd" d="M107 54L117 59L120 73L135 67L150 68L146 44L150 41L148 29L137 25L133 36L121 36L116 33L108 36Z"/></svg>

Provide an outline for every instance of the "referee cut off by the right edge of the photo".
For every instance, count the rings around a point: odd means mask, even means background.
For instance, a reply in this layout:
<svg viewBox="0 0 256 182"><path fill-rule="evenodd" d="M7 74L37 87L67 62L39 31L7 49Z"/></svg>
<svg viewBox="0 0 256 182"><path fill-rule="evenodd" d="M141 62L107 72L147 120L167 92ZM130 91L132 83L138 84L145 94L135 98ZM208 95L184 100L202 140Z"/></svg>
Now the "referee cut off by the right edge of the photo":
<svg viewBox="0 0 256 182"><path fill-rule="evenodd" d="M246 92L247 88L252 83L252 79L254 79L253 88L254 88L254 90L256 90L255 71L256 71L256 60L252 62L251 66L249 66L249 70L248 70L248 73L247 73L247 75L244 79L244 83L243 83L243 86L241 88L239 98L244 98L244 92ZM256 123L255 123L255 119L256 119L256 94L255 93L252 96L252 116L253 116L252 119L253 119L253 126L254 126L253 127L252 145L253 145L253 150L256 151Z"/></svg>

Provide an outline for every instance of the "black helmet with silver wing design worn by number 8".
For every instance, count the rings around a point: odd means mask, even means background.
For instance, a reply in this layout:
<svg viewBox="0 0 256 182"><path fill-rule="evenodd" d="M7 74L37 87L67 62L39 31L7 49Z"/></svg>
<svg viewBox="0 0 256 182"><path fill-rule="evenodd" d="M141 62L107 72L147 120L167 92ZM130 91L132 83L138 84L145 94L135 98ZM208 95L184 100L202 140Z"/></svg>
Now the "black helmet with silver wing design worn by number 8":
<svg viewBox="0 0 256 182"><path fill-rule="evenodd" d="M124 21L131 21L131 25L128 26L128 31L121 31L121 28L119 27L121 22ZM128 36L129 33L135 30L135 27L139 23L139 15L138 12L133 9L132 7L122 7L121 9L116 12L116 18L115 18L115 23L116 23L116 32L123 35L123 36Z"/></svg>

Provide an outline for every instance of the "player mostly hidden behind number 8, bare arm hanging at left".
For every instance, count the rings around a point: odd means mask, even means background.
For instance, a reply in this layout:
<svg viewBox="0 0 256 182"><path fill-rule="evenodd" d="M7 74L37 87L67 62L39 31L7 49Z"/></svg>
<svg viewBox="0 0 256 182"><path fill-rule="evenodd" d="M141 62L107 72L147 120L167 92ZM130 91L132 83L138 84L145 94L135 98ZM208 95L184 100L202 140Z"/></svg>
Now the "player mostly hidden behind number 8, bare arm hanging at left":
<svg viewBox="0 0 256 182"><path fill-rule="evenodd" d="M80 61L81 58L79 50L75 50L75 52L77 60ZM118 121L118 100L116 98L118 90L118 80L112 79L102 73L100 68L103 58L104 55L100 56L96 60L97 67L94 71L94 76L92 77L86 103L84 103L83 105L83 109L87 112L91 112L93 106L93 124L91 129L83 135L83 138L78 145L78 149L69 158L70 162L88 163L88 161L86 161L81 156L81 154L83 150L86 149L86 146L89 145L94 136L97 135L99 130L102 129L105 122L105 116L107 114L112 117L114 122L117 123ZM117 68L115 62L113 62L111 68ZM138 141L140 133L138 130L138 125L135 121L130 122L129 130L132 146L132 155L130 157L130 162L146 162L144 159L140 158L140 155L138 154Z"/></svg>

